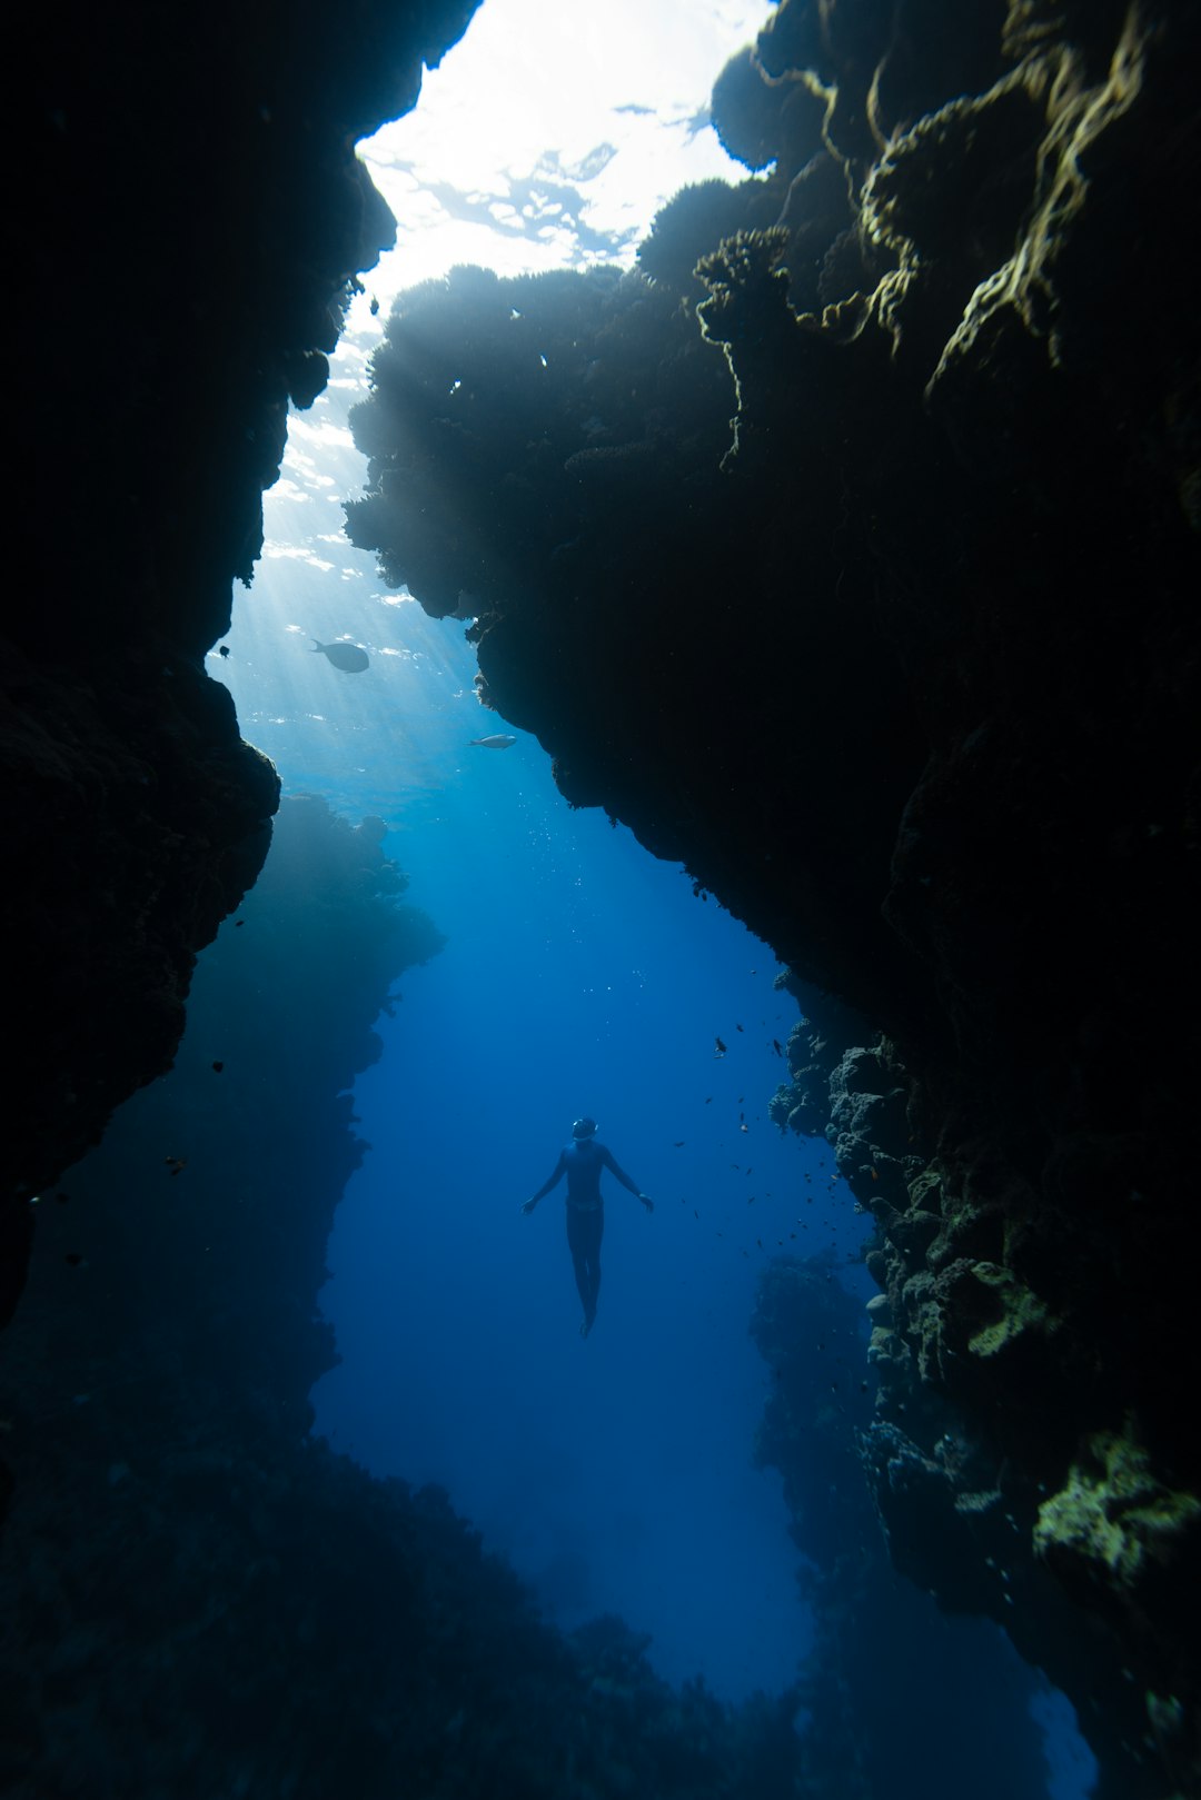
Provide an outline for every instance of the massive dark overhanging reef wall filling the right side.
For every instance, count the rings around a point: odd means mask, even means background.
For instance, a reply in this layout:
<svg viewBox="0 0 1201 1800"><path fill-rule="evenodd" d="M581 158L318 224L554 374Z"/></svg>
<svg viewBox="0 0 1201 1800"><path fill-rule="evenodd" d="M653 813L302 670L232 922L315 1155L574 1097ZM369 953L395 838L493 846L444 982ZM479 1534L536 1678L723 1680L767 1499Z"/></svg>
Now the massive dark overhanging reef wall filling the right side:
<svg viewBox="0 0 1201 1800"><path fill-rule="evenodd" d="M871 1022L825 1100L893 1552L1125 1800L1201 1789L1199 52L1190 4L787 0L718 85L740 229L699 189L643 274L405 297L349 509L573 803Z"/></svg>

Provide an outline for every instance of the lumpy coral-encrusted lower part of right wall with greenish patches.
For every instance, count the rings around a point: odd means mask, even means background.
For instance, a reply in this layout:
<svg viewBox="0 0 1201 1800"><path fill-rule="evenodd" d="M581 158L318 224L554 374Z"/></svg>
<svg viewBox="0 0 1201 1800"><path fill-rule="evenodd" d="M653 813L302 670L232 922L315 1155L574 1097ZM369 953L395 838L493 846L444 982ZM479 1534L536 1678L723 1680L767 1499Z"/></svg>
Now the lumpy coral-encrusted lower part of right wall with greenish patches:
<svg viewBox="0 0 1201 1800"><path fill-rule="evenodd" d="M814 995L812 1013L825 1004ZM789 1058L796 1076L772 1114L816 1132L825 1060L825 1138L877 1226L864 1251L882 1289L866 1309L877 1391L859 1444L893 1564L947 1611L996 1620L1070 1694L1102 1800L1161 1800L1165 1768L1172 1791L1194 1793L1201 1503L1165 1481L1179 1467L1165 1453L1170 1415L1134 1408L1120 1323L1093 1336L1073 1303L1091 1292L1088 1244L1064 1292L1052 1278L1061 1233L1043 1265L1030 1242L1035 1190L983 1130L971 1163L922 1163L917 1084L895 1044L877 1037L839 1055L807 1006ZM1167 1390L1178 1395L1176 1382ZM1079 1438L1064 1429L1070 1409ZM1154 1415L1165 1418L1158 1458L1143 1442ZM1089 1431L1109 1417L1116 1427Z"/></svg>

